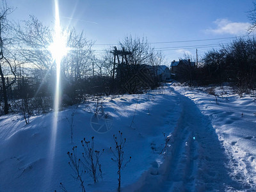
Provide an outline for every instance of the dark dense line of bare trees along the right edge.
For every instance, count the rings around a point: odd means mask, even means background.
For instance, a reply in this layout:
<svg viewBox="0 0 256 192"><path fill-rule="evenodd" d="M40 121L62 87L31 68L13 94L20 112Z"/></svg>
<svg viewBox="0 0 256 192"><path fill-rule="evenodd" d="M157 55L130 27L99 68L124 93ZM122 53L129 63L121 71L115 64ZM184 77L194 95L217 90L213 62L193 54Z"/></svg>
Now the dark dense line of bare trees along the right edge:
<svg viewBox="0 0 256 192"><path fill-rule="evenodd" d="M230 82L240 88L256 88L256 39L239 38L221 49L205 53L197 67L184 67L179 72L182 81L194 84ZM178 79L180 80L180 79Z"/></svg>

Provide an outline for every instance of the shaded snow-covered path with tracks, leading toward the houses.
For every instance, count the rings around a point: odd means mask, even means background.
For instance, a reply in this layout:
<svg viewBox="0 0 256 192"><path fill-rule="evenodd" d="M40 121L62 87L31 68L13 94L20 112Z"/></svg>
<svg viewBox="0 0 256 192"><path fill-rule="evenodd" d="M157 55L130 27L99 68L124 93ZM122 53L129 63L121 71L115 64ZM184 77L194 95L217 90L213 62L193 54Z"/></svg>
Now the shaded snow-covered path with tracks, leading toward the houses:
<svg viewBox="0 0 256 192"><path fill-rule="evenodd" d="M174 92L182 108L171 146L159 175L148 172L136 191L237 191L244 189L230 178L228 156L207 116L196 104Z"/></svg>

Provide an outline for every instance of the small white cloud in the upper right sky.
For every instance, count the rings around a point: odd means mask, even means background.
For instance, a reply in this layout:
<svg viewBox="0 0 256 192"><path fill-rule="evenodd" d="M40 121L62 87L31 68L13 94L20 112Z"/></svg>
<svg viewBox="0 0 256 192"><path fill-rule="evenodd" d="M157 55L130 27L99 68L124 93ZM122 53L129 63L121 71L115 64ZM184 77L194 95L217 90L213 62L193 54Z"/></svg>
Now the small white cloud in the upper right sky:
<svg viewBox="0 0 256 192"><path fill-rule="evenodd" d="M207 33L246 35L250 26L249 22L232 22L228 19L217 19L214 21L216 29L206 29Z"/></svg>

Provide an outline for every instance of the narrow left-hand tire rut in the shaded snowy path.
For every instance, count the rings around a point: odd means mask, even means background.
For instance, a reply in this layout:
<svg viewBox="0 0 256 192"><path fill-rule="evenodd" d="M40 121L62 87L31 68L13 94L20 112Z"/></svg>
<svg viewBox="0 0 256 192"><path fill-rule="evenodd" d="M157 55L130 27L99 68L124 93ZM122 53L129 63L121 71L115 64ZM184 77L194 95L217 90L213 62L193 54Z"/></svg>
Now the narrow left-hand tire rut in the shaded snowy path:
<svg viewBox="0 0 256 192"><path fill-rule="evenodd" d="M161 191L186 191L187 188L195 186L193 178L194 162L193 141L189 131L188 114L184 102L181 102L182 113L180 115L177 127L173 132L173 150L169 169L166 170L166 179L163 180Z"/></svg>

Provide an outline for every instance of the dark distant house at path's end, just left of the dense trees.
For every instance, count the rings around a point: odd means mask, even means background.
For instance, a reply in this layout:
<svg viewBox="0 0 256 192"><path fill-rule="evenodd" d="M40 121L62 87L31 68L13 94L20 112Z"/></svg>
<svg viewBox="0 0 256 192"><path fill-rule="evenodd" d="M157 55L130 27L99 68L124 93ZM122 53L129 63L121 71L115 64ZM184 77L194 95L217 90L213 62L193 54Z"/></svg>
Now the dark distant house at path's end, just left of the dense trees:
<svg viewBox="0 0 256 192"><path fill-rule="evenodd" d="M172 76L176 76L177 73L180 72L180 70L184 69L184 68L188 68L189 67L195 67L196 63L195 62L191 62L190 60L179 60L179 61L175 61L173 60L171 63L171 74Z"/></svg>

